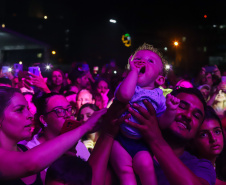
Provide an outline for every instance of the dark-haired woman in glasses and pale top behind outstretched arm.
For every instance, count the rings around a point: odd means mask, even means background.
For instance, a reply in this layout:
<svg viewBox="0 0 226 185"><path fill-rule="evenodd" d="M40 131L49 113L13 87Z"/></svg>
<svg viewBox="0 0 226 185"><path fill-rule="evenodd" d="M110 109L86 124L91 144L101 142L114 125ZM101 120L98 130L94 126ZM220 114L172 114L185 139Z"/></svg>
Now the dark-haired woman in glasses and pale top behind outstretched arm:
<svg viewBox="0 0 226 185"><path fill-rule="evenodd" d="M44 94L36 99L35 104L37 107L35 122L39 123L42 129L27 143L29 148L57 137L66 120L75 120L75 109L63 95L58 93ZM73 148L75 150L70 150L72 155L88 160L90 153L80 140L76 144L76 148Z"/></svg>

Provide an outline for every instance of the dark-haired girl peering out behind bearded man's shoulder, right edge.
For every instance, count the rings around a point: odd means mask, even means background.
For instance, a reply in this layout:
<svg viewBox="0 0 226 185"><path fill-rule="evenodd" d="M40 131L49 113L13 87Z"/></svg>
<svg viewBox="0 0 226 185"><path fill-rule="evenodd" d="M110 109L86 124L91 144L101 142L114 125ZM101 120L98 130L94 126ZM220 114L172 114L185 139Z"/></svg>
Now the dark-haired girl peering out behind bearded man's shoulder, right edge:
<svg viewBox="0 0 226 185"><path fill-rule="evenodd" d="M191 152L198 158L208 159L213 164L217 180L216 185L226 185L226 147L224 130L214 109L207 106L205 119L191 143Z"/></svg>

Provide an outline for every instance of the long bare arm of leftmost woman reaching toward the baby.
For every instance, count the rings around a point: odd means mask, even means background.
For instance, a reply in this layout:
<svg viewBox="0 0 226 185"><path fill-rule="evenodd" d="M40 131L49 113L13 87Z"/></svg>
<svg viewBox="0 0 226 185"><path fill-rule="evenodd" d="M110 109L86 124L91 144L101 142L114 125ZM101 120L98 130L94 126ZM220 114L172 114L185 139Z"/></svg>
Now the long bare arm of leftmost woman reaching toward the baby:
<svg viewBox="0 0 226 185"><path fill-rule="evenodd" d="M26 152L12 152L0 148L0 179L21 178L42 171L73 147L85 133L91 131L106 111L96 111L80 127Z"/></svg>

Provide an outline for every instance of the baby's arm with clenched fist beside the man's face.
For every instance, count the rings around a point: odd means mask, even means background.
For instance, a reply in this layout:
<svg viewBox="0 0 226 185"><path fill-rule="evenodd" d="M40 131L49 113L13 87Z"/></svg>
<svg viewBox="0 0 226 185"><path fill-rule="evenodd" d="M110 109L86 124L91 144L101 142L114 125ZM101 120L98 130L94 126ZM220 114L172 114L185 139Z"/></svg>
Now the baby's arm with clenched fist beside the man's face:
<svg viewBox="0 0 226 185"><path fill-rule="evenodd" d="M170 124L175 119L177 107L180 103L180 99L176 98L171 94L166 96L166 110L158 117L160 128L164 129L170 126Z"/></svg>

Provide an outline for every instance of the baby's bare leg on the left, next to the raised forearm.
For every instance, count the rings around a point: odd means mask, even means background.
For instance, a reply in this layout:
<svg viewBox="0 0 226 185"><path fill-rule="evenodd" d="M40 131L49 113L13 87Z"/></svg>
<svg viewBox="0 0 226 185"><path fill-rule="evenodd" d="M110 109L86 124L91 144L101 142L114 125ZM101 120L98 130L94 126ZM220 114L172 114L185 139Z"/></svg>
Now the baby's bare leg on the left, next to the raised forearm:
<svg viewBox="0 0 226 185"><path fill-rule="evenodd" d="M137 184L132 168L132 157L118 141L114 141L113 143L110 161L115 173L120 179L121 185Z"/></svg>

